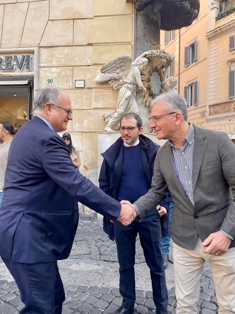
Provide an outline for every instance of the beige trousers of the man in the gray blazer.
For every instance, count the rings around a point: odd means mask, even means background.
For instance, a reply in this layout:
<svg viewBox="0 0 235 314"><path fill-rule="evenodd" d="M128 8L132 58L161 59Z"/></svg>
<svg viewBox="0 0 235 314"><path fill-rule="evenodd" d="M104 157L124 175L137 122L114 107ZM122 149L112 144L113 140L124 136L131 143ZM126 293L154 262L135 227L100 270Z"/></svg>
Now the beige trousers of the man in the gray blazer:
<svg viewBox="0 0 235 314"><path fill-rule="evenodd" d="M204 254L198 238L193 250L173 243L177 314L197 314L200 279L205 261L210 262L219 314L235 313L235 248L222 256Z"/></svg>

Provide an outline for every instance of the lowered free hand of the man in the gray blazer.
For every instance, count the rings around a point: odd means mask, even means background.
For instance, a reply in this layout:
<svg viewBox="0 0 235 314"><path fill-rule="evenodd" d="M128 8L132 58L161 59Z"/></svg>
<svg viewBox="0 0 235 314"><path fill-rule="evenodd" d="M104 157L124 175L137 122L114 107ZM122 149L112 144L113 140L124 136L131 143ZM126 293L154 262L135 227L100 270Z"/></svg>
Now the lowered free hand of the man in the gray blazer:
<svg viewBox="0 0 235 314"><path fill-rule="evenodd" d="M217 231L209 235L205 241L202 242L202 246L205 246L203 253L207 253L215 256L222 256L229 249L232 239L222 232Z"/></svg>

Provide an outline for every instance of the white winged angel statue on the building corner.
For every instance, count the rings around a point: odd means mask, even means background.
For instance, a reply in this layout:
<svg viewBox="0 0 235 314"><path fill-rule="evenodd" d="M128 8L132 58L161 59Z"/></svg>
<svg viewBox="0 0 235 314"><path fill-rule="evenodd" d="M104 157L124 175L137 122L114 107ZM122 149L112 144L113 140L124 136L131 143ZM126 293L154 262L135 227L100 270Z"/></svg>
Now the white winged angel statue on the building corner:
<svg viewBox="0 0 235 314"><path fill-rule="evenodd" d="M136 85L145 92L146 89L141 81L140 71L148 63L148 59L144 58L147 54L149 54L149 51L143 52L134 62L130 55L121 55L106 63L101 68L101 73L95 78L96 83L108 81L114 89L119 89L117 109L103 115L106 122L106 131L117 131L124 114L129 112L139 113L136 102Z"/></svg>

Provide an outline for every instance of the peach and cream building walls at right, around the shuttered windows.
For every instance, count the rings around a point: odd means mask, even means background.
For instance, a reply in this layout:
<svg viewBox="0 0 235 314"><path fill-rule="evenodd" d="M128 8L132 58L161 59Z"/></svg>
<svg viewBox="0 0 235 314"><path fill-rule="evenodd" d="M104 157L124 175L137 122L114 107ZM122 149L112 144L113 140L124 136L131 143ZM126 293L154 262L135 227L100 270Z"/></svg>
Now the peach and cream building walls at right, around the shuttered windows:
<svg viewBox="0 0 235 314"><path fill-rule="evenodd" d="M216 20L219 0L200 1L200 13L191 26L175 31L175 39L161 48L175 55L178 92L199 82L198 105L188 108L188 120L199 127L235 133L235 102L229 99L229 70L235 68L235 51L229 51L229 37L235 33L235 13ZM198 60L185 67L184 48L198 40Z"/></svg>

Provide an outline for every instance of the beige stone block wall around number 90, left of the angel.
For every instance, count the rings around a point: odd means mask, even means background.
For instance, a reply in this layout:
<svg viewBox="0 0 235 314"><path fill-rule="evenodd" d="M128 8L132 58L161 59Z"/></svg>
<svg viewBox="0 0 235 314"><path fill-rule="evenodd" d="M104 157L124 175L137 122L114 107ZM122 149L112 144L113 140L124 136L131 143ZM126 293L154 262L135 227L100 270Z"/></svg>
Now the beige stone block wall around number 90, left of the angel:
<svg viewBox="0 0 235 314"><path fill-rule="evenodd" d="M125 0L0 0L0 52L39 48L38 88L60 87L71 97L67 131L91 178L96 132L104 130L102 115L116 107L118 97L94 78L104 63L133 55L134 14L134 4ZM47 78L54 78L54 85L47 85ZM85 88L75 88L75 79L85 80Z"/></svg>

